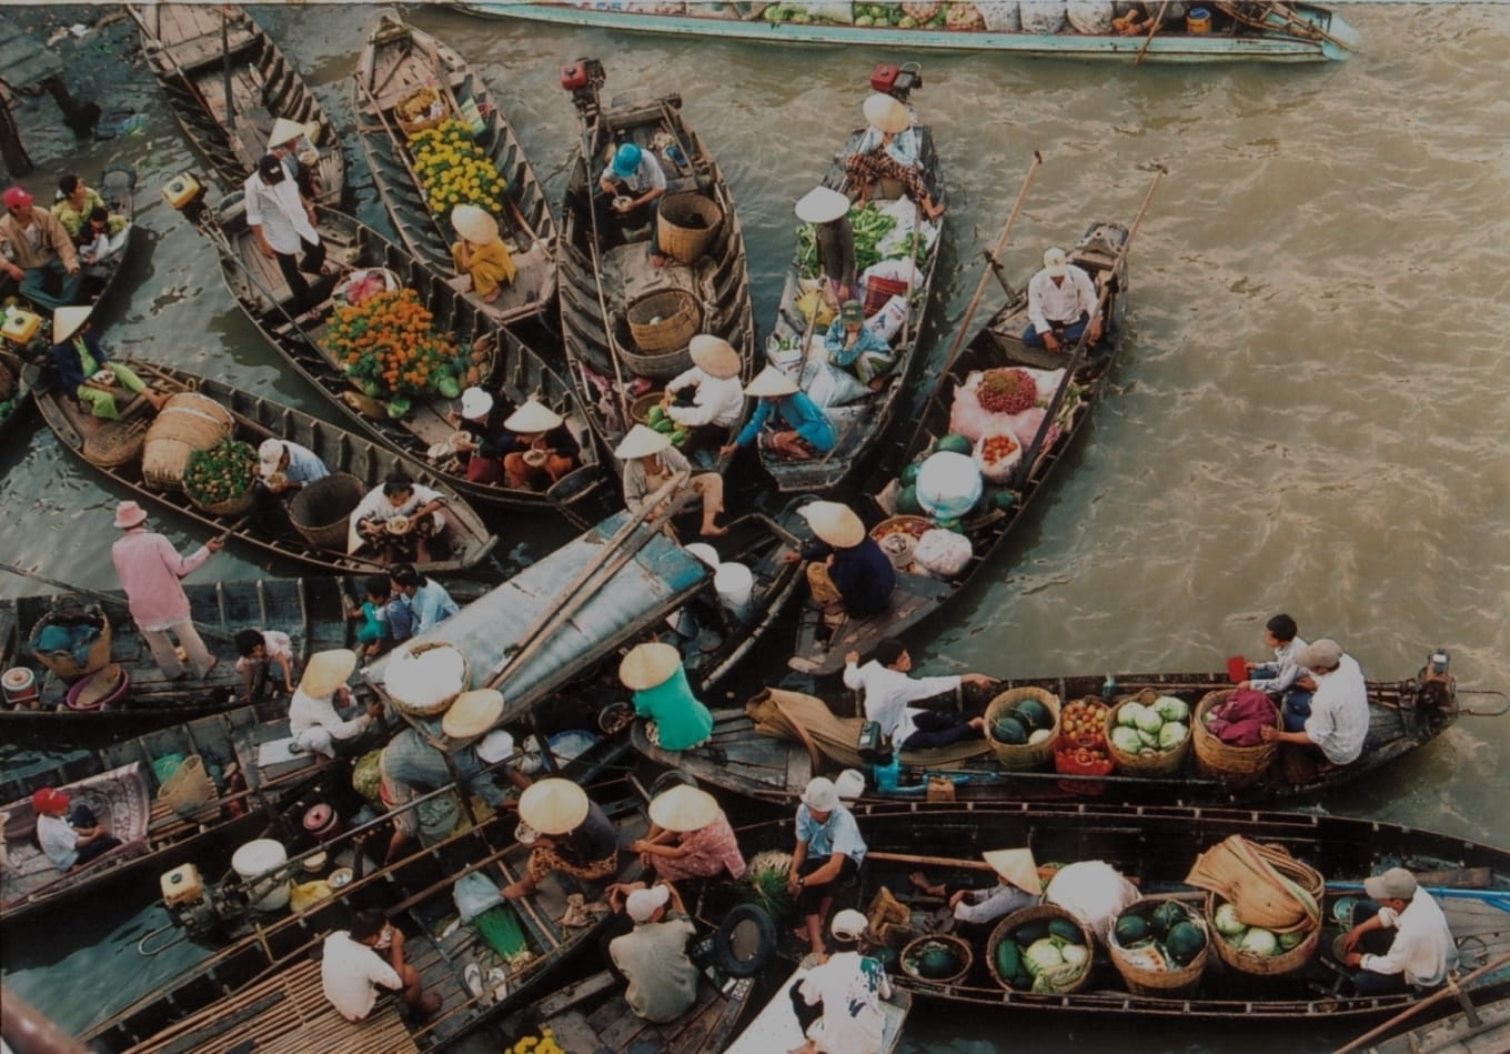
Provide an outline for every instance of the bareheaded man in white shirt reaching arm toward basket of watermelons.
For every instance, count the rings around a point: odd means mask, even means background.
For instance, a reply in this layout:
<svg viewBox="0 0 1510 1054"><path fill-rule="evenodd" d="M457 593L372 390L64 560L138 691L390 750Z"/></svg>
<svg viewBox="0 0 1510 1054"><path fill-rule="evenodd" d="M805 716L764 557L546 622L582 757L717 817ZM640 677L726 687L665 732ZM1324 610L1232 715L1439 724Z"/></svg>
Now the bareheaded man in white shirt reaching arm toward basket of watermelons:
<svg viewBox="0 0 1510 1054"><path fill-rule="evenodd" d="M844 657L844 687L859 692L865 704L865 720L880 725L894 750L921 750L948 746L960 740L980 738L985 720L963 714L920 710L909 702L954 692L960 684L991 684L985 673L951 673L948 676L908 676L912 655L894 637L876 645L874 657L858 666L859 652Z"/></svg>

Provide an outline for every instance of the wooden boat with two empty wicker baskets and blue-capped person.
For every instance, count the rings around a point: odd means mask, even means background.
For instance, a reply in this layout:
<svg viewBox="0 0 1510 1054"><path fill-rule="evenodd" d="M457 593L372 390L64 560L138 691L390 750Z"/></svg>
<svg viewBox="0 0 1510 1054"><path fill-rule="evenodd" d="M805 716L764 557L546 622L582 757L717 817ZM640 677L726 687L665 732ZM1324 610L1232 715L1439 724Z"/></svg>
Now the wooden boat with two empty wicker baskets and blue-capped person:
<svg viewBox="0 0 1510 1054"><path fill-rule="evenodd" d="M613 450L636 420L631 403L692 367L696 334L726 340L746 379L753 373L755 310L744 236L717 160L687 124L681 95L636 89L604 107L602 65L574 63L580 142L562 196L562 338L572 384L593 427ZM565 83L563 77L563 83ZM649 225L602 225L598 177L619 145L634 143L666 174L660 202L664 266L651 266ZM667 225L675 214L676 230ZM602 225L602 227L601 227ZM689 263L690 261L690 263Z"/></svg>

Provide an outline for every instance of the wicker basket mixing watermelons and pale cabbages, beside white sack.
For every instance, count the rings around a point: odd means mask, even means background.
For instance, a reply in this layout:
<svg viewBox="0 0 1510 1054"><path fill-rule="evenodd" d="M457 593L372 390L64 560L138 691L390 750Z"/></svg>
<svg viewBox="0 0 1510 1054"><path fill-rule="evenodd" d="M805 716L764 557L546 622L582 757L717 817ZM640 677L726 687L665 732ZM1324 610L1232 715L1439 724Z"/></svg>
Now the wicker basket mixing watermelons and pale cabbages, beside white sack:
<svg viewBox="0 0 1510 1054"><path fill-rule="evenodd" d="M1090 985L1096 942L1063 908L1034 905L997 923L986 941L986 965L1009 992L1065 995Z"/></svg>

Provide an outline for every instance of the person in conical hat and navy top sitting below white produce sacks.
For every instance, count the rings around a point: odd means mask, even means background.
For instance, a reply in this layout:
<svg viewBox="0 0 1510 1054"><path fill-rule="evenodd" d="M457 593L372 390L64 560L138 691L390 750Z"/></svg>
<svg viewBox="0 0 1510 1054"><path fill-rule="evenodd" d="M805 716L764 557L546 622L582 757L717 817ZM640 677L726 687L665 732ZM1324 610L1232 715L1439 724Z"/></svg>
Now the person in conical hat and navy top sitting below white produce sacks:
<svg viewBox="0 0 1510 1054"><path fill-rule="evenodd" d="M815 541L782 560L808 562L808 587L824 622L838 625L886 610L897 571L855 510L838 501L809 501L800 512Z"/></svg>

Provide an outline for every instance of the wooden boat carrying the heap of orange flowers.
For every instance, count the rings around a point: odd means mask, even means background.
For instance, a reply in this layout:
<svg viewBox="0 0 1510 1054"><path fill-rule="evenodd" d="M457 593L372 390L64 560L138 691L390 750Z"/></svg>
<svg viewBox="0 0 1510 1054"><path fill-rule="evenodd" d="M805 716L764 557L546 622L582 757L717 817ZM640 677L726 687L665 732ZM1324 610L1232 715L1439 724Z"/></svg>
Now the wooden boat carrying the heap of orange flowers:
<svg viewBox="0 0 1510 1054"><path fill-rule="evenodd" d="M400 287L418 293L420 302L435 316L436 329L448 334L459 350L471 349L474 355L482 355L483 362L477 367L482 388L512 403L535 397L565 418L565 427L581 447L580 464L548 491L470 482L455 467L445 447L456 426L445 420L448 406L439 397L417 399L408 415L390 418L382 403L362 396L326 347L325 337L341 279L325 276L313 287L313 296L322 297L316 308L319 322L300 323L285 311L288 285L275 263L258 252L246 227L243 202L233 198L222 205L214 222L205 219L196 220L196 227L220 249L220 273L242 310L273 347L361 430L402 455L429 461L432 474L442 476L455 491L482 504L554 506L574 524L586 527L599 510L610 507L610 489L615 492L612 500L619 500L618 485L610 483L599 468L587 414L560 374L530 346L477 311L468 299L458 296L432 270L378 231L343 213L320 213L320 239L328 246L326 258L332 266L387 270Z"/></svg>

